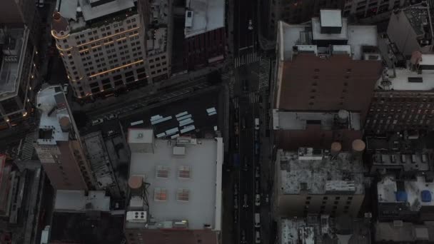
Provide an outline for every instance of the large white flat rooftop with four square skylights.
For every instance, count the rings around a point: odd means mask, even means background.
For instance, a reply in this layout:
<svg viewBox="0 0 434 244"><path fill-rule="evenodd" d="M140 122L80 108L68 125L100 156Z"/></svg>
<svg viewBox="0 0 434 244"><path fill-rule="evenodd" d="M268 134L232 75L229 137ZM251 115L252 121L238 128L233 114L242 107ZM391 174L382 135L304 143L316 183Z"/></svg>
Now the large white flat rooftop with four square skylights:
<svg viewBox="0 0 434 244"><path fill-rule="evenodd" d="M189 229L209 225L220 230L223 141L191 141L194 143L183 145L178 141L176 146L176 141L156 139L153 153L131 153L129 175L144 176L149 184L149 214L156 223L187 220ZM179 190L185 190L186 199L178 198ZM158 193L163 193L165 200Z"/></svg>

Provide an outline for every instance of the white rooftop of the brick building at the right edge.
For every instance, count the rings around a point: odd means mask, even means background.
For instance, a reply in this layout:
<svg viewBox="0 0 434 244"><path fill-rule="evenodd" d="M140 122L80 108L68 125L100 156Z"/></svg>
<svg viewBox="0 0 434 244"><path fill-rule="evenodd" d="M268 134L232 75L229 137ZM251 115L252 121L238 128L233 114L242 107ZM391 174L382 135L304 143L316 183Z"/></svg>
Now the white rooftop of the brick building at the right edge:
<svg viewBox="0 0 434 244"><path fill-rule="evenodd" d="M422 82L409 82L409 78L410 81L418 78L416 81ZM382 81L390 81L390 83ZM378 79L375 87L395 91L430 91L434 89L434 70L425 69L419 74L417 71L411 71L410 68L386 68L383 77Z"/></svg>

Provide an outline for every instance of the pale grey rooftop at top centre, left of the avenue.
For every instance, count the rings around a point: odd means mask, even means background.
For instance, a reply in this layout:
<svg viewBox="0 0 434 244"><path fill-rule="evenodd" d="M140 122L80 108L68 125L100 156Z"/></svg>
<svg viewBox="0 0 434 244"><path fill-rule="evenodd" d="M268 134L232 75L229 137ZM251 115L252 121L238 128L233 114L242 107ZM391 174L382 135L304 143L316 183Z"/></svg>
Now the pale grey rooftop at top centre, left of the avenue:
<svg viewBox="0 0 434 244"><path fill-rule="evenodd" d="M185 37L196 36L225 26L225 1L187 0Z"/></svg>

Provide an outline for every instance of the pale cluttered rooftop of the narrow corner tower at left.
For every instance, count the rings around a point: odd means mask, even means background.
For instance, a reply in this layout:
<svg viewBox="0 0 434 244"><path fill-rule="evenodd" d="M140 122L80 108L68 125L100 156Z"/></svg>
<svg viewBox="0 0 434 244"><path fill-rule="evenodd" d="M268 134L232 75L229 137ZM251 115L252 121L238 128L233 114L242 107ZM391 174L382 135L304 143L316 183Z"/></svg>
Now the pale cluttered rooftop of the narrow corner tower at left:
<svg viewBox="0 0 434 244"><path fill-rule="evenodd" d="M56 145L56 141L68 141L69 130L62 130L62 123L71 123L68 104L61 86L49 86L38 92L37 108L41 113L39 121L39 145ZM70 125L69 125L70 126Z"/></svg>

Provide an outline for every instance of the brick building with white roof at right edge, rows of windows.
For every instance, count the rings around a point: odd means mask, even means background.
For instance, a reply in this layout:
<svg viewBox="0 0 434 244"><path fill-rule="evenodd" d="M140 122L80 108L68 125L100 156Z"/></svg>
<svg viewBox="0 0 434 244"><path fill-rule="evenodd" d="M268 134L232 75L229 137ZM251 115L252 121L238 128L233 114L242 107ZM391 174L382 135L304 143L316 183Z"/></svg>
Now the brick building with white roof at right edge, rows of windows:
<svg viewBox="0 0 434 244"><path fill-rule="evenodd" d="M365 123L367 133L434 129L434 54L413 53L405 67L378 79Z"/></svg>

